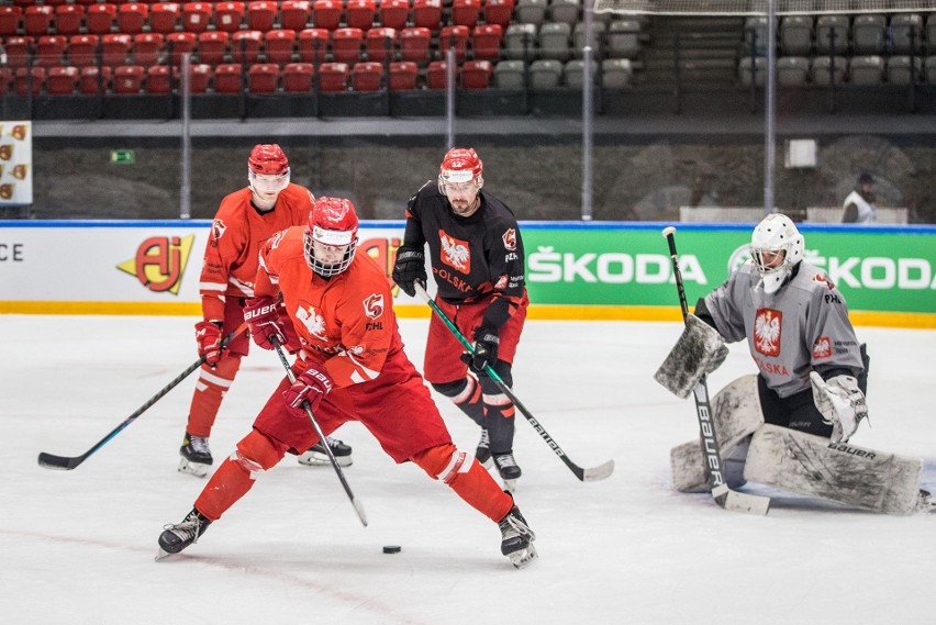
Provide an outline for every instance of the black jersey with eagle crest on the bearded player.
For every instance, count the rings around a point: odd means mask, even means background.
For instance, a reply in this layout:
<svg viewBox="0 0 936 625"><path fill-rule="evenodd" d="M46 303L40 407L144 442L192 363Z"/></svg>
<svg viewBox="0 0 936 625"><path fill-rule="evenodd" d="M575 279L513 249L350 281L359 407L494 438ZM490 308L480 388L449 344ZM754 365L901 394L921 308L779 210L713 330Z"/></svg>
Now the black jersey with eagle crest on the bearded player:
<svg viewBox="0 0 936 625"><path fill-rule="evenodd" d="M428 243L438 297L445 302L459 305L494 295L491 306L502 308L503 316L495 311L484 316L500 326L524 297L523 241L513 212L490 193L478 194L481 207L461 217L435 181L423 185L406 207L403 245L423 249Z"/></svg>

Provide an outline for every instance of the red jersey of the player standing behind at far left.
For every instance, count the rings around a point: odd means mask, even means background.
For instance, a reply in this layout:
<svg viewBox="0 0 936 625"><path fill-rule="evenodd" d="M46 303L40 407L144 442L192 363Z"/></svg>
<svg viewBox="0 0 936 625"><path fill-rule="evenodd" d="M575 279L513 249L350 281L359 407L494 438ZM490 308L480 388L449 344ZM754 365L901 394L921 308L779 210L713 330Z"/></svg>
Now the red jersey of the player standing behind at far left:
<svg viewBox="0 0 936 625"><path fill-rule="evenodd" d="M283 189L265 213L250 205L250 197L249 187L225 197L211 224L199 280L205 320L224 319L225 297L253 297L260 245L276 232L305 224L312 210L309 191L299 185Z"/></svg>

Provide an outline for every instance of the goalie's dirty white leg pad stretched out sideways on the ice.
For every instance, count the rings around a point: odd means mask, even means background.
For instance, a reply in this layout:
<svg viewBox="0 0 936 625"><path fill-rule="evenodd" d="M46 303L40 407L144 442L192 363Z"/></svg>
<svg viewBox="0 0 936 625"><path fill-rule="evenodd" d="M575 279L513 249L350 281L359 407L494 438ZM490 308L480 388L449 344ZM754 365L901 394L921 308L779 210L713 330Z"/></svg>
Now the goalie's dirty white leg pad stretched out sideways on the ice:
<svg viewBox="0 0 936 625"><path fill-rule="evenodd" d="M751 438L744 469L753 482L884 514L916 510L922 473L920 458L769 424Z"/></svg>

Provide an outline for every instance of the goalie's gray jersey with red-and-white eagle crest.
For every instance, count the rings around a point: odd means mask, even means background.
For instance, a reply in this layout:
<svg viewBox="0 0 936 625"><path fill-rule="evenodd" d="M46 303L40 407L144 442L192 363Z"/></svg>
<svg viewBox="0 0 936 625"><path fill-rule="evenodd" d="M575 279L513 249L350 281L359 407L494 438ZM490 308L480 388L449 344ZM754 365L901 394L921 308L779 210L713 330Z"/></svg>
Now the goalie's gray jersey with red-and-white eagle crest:
<svg viewBox="0 0 936 625"><path fill-rule="evenodd" d="M757 288L751 263L705 297L718 333L728 343L747 338L750 356L767 386L781 398L810 388L810 371L863 366L843 294L813 265L800 263L780 290Z"/></svg>

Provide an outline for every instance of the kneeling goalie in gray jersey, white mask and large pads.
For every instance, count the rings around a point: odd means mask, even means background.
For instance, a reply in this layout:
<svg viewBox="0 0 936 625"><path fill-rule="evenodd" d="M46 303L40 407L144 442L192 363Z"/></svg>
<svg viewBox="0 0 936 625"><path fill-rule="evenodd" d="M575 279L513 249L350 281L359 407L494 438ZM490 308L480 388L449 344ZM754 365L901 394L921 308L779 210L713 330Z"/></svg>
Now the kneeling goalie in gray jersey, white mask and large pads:
<svg viewBox="0 0 936 625"><path fill-rule="evenodd" d="M728 487L759 482L890 514L928 510L923 462L848 443L868 414L868 362L845 297L803 260L805 242L785 215L754 230L749 263L699 300L656 373L681 398L724 360L724 342L747 339L757 376L711 402ZM670 454L677 490L706 490L699 440Z"/></svg>

